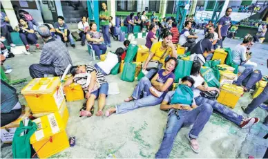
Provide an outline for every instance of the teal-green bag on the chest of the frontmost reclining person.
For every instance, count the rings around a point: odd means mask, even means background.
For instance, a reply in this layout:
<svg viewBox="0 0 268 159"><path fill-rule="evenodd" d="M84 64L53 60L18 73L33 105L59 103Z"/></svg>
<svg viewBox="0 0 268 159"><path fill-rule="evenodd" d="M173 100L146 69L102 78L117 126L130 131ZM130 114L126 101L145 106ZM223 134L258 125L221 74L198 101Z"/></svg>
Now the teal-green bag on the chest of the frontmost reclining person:
<svg viewBox="0 0 268 159"><path fill-rule="evenodd" d="M171 98L171 104L188 104L193 102L193 91L189 86L179 84Z"/></svg>

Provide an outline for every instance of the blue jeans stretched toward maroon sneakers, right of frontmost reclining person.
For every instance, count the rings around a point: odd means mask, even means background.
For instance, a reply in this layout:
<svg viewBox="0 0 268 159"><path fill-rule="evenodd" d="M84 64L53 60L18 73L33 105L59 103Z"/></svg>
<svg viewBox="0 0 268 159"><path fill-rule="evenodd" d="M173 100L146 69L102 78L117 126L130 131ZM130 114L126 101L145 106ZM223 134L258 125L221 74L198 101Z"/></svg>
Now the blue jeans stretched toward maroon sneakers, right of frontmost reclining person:
<svg viewBox="0 0 268 159"><path fill-rule="evenodd" d="M213 108L213 111L217 111L227 120L230 120L231 122L237 124L238 126L242 122L242 115L238 115L236 112L231 111L227 106L224 106L220 103L218 103L216 100L209 100L206 97L202 97L201 95L198 97L195 97L195 103L199 106L201 104L207 103L210 104Z"/></svg>

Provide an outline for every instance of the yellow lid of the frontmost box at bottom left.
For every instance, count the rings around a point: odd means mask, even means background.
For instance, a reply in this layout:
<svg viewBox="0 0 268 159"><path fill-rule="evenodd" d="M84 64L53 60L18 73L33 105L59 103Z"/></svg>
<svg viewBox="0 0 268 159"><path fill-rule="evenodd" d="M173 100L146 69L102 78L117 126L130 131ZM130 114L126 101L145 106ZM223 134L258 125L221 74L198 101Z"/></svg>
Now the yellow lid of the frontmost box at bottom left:
<svg viewBox="0 0 268 159"><path fill-rule="evenodd" d="M32 120L32 122L37 124L37 131L30 137L30 144L49 138L55 135L55 133L64 130L64 124L58 112L42 116L41 118Z"/></svg>

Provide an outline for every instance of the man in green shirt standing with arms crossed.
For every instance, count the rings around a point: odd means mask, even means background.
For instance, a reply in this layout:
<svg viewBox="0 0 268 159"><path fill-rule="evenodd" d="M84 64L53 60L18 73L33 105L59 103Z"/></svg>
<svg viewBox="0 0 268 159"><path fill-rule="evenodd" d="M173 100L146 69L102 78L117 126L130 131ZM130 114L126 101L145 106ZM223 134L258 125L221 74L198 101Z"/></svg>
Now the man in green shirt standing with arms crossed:
<svg viewBox="0 0 268 159"><path fill-rule="evenodd" d="M102 34L104 35L104 43L111 48L111 39L109 35L109 17L106 3L102 3L102 11L99 12L100 26L102 26Z"/></svg>

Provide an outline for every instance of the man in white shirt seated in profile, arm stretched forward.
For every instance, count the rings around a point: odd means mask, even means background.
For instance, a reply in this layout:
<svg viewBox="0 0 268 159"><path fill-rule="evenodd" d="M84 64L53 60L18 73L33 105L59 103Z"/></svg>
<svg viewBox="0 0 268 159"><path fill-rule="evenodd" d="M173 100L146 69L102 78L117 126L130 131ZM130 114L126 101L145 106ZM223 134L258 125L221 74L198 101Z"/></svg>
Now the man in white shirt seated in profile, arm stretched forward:
<svg viewBox="0 0 268 159"><path fill-rule="evenodd" d="M193 46L195 45L195 41L189 42L187 38L198 39L198 36L190 35L189 31L191 30L191 26L192 26L191 21L185 22L185 28L182 30L179 40L180 46L187 47L188 50L191 50L191 48L193 48Z"/></svg>

